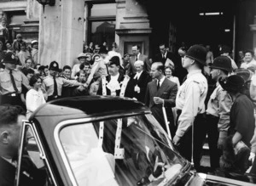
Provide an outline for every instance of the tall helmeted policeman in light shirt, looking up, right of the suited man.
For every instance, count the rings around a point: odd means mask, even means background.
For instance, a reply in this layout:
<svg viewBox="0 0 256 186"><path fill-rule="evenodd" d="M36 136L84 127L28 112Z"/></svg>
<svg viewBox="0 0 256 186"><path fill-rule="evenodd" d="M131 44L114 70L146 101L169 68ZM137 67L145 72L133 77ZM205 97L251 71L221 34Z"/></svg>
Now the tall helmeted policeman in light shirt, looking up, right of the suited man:
<svg viewBox="0 0 256 186"><path fill-rule="evenodd" d="M188 76L177 92L177 132L173 143L180 154L191 160L194 139L193 161L195 169L200 167L201 149L204 141L205 99L207 97L207 78L201 73L206 65L207 50L201 45L194 45L185 54L182 65L188 70ZM193 125L194 122L194 125ZM194 126L194 130L192 127ZM193 138L192 134L194 132Z"/></svg>

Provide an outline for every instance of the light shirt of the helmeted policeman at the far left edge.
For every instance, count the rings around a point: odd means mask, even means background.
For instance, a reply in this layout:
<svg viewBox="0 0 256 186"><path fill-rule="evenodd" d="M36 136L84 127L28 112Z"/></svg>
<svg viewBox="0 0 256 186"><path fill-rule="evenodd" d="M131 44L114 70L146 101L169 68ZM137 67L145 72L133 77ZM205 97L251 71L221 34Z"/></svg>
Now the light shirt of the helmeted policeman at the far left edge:
<svg viewBox="0 0 256 186"><path fill-rule="evenodd" d="M11 82L9 70L4 69L0 71L0 94L6 95L9 93L15 93L15 88ZM21 85L23 84L27 89L30 89L29 82L26 76L20 70L13 70L13 76L15 77L15 84L18 89L18 93L21 93Z"/></svg>

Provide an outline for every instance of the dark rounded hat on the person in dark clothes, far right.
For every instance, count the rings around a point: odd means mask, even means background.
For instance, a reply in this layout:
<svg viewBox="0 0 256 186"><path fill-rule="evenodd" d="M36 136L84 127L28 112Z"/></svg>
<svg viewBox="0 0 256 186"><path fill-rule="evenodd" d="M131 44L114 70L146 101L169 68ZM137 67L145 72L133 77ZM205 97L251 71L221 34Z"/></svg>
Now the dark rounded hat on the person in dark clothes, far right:
<svg viewBox="0 0 256 186"><path fill-rule="evenodd" d="M221 87L224 90L231 92L231 93L238 93L241 91L244 85L244 79L238 75L231 75L228 77L221 77L218 80Z"/></svg>

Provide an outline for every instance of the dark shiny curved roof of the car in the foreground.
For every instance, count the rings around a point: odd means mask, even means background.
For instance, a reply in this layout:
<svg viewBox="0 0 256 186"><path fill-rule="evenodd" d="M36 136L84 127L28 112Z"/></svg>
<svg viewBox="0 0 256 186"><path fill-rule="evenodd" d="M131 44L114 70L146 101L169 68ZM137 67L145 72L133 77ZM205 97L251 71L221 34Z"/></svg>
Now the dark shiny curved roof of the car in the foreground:
<svg viewBox="0 0 256 186"><path fill-rule="evenodd" d="M113 96L80 96L56 99L43 104L29 120L38 125L55 127L61 121L86 117L150 113L145 104L133 99ZM50 123L50 125L49 125Z"/></svg>

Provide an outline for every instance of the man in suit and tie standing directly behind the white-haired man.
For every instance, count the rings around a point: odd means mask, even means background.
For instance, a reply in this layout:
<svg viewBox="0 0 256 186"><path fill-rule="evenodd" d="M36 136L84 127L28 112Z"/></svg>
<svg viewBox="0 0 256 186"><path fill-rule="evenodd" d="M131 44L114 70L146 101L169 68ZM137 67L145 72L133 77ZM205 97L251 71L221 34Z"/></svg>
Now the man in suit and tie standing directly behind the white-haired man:
<svg viewBox="0 0 256 186"><path fill-rule="evenodd" d="M132 50L132 54L134 54L134 55L130 57L130 65L128 67L128 76L132 76L132 75L136 74L137 70L136 70L134 63L137 60L142 60L144 62L144 70L149 72L150 71L150 63L148 60L148 56L141 54L140 46L134 45L134 46L132 46L131 50Z"/></svg>

